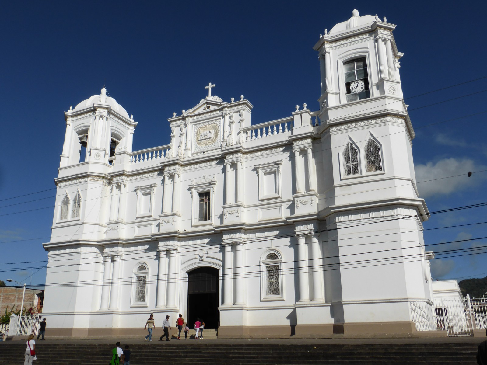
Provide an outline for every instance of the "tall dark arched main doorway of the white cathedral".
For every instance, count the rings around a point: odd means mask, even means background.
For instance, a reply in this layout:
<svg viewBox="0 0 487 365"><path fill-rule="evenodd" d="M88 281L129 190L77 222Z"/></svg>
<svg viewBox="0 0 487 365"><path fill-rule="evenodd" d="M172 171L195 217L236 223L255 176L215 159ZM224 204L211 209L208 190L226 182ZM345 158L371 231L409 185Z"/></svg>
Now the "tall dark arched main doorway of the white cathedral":
<svg viewBox="0 0 487 365"><path fill-rule="evenodd" d="M201 267L187 273L187 321L193 329L196 318L205 328L218 328L218 269Z"/></svg>

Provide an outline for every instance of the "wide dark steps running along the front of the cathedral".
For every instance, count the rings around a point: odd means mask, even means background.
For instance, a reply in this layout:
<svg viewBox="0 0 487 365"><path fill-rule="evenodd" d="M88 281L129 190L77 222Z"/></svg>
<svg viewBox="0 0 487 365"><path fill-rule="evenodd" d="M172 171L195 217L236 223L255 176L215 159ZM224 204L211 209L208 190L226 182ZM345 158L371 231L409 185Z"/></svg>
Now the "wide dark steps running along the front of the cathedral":
<svg viewBox="0 0 487 365"><path fill-rule="evenodd" d="M206 336L205 336L206 337ZM81 342L81 341L80 341ZM40 343L35 365L107 365L113 345ZM202 343L203 342L203 343ZM133 341L132 341L133 343ZM475 365L477 345L440 344L269 344L221 341L170 341L130 344L131 365ZM122 346L124 348L124 346ZM2 365L23 363L25 344L0 342Z"/></svg>

